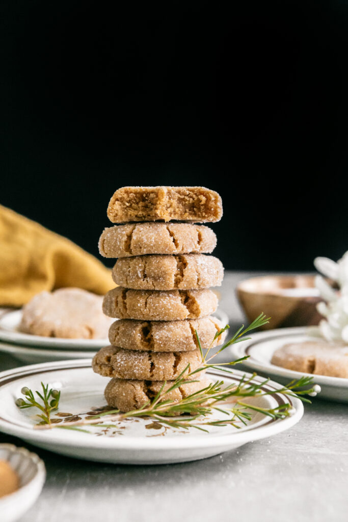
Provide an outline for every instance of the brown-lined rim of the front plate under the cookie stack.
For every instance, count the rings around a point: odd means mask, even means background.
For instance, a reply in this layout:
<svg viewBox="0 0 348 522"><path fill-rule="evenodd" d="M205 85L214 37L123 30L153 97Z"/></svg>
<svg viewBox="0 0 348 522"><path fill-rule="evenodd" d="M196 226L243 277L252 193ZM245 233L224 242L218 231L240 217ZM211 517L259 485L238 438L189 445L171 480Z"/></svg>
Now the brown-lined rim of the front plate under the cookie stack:
<svg viewBox="0 0 348 522"><path fill-rule="evenodd" d="M38 363L38 364L30 364L26 366L20 366L15 369L6 370L0 373L0 387L9 382L13 382L19 378L25 377L26 374L40 374L42 372L47 371L57 371L57 370L74 370L74 369L84 369L91 366L91 359L71 359L66 361L53 361L46 363ZM32 373L34 372L34 373ZM212 370L209 373L215 375L226 375L224 372L219 370ZM248 372L243 372L241 370L235 370L236 374L247 374L251 375ZM11 378L15 377L15 378ZM233 378L233 377L232 377ZM264 377L256 376L255 378L260 378L264 380ZM280 383L274 382L271 379L267 382L267 386L270 386L274 389L283 388L283 385ZM274 394L275 395L275 394ZM272 396L274 396L272 395ZM242 444L259 440L260 438L265 438L267 436L272 436L278 433L281 433L289 428L291 428L294 424L296 424L299 420L301 420L304 407L303 403L297 397L289 397L284 394L279 393L279 395L286 398L287 402L294 407L295 413L291 417L286 417L284 419L276 419L271 420L266 424L261 426L256 426L254 429L250 428L249 430L245 430L242 432L234 433L218 433L218 434L207 434L207 437L190 435L190 437L185 437L178 439L178 437L169 437L163 438L161 443L159 444L157 440L154 438L134 438L134 437L125 437L125 438L107 438L107 437L94 437L91 438L90 441L88 439L76 438L76 432L66 432L65 438L58 438L54 434L54 430L51 432L47 431L35 431L33 429L26 428L25 426L18 426L17 424L11 424L8 420L3 419L0 416L0 431L4 431L10 435L15 435L24 440L30 441L32 444L35 444L35 440L38 442L51 442L52 444L58 444L61 447L69 447L71 444L77 444L79 447L84 447L86 449L96 449L102 450L106 448L110 449L124 449L124 450L153 450L157 451L167 451L167 450L175 450L175 449L191 449L191 448L210 448L212 446L215 447L225 447L232 445L232 441L235 443L241 442ZM15 426L13 428L13 426ZM47 435L50 434L50 437L47 438ZM81 433L81 435L86 436L87 434ZM210 435L210 436L209 436ZM229 438L232 440L229 441ZM102 440L101 440L102 439ZM185 441L183 443L178 443L178 440Z"/></svg>

